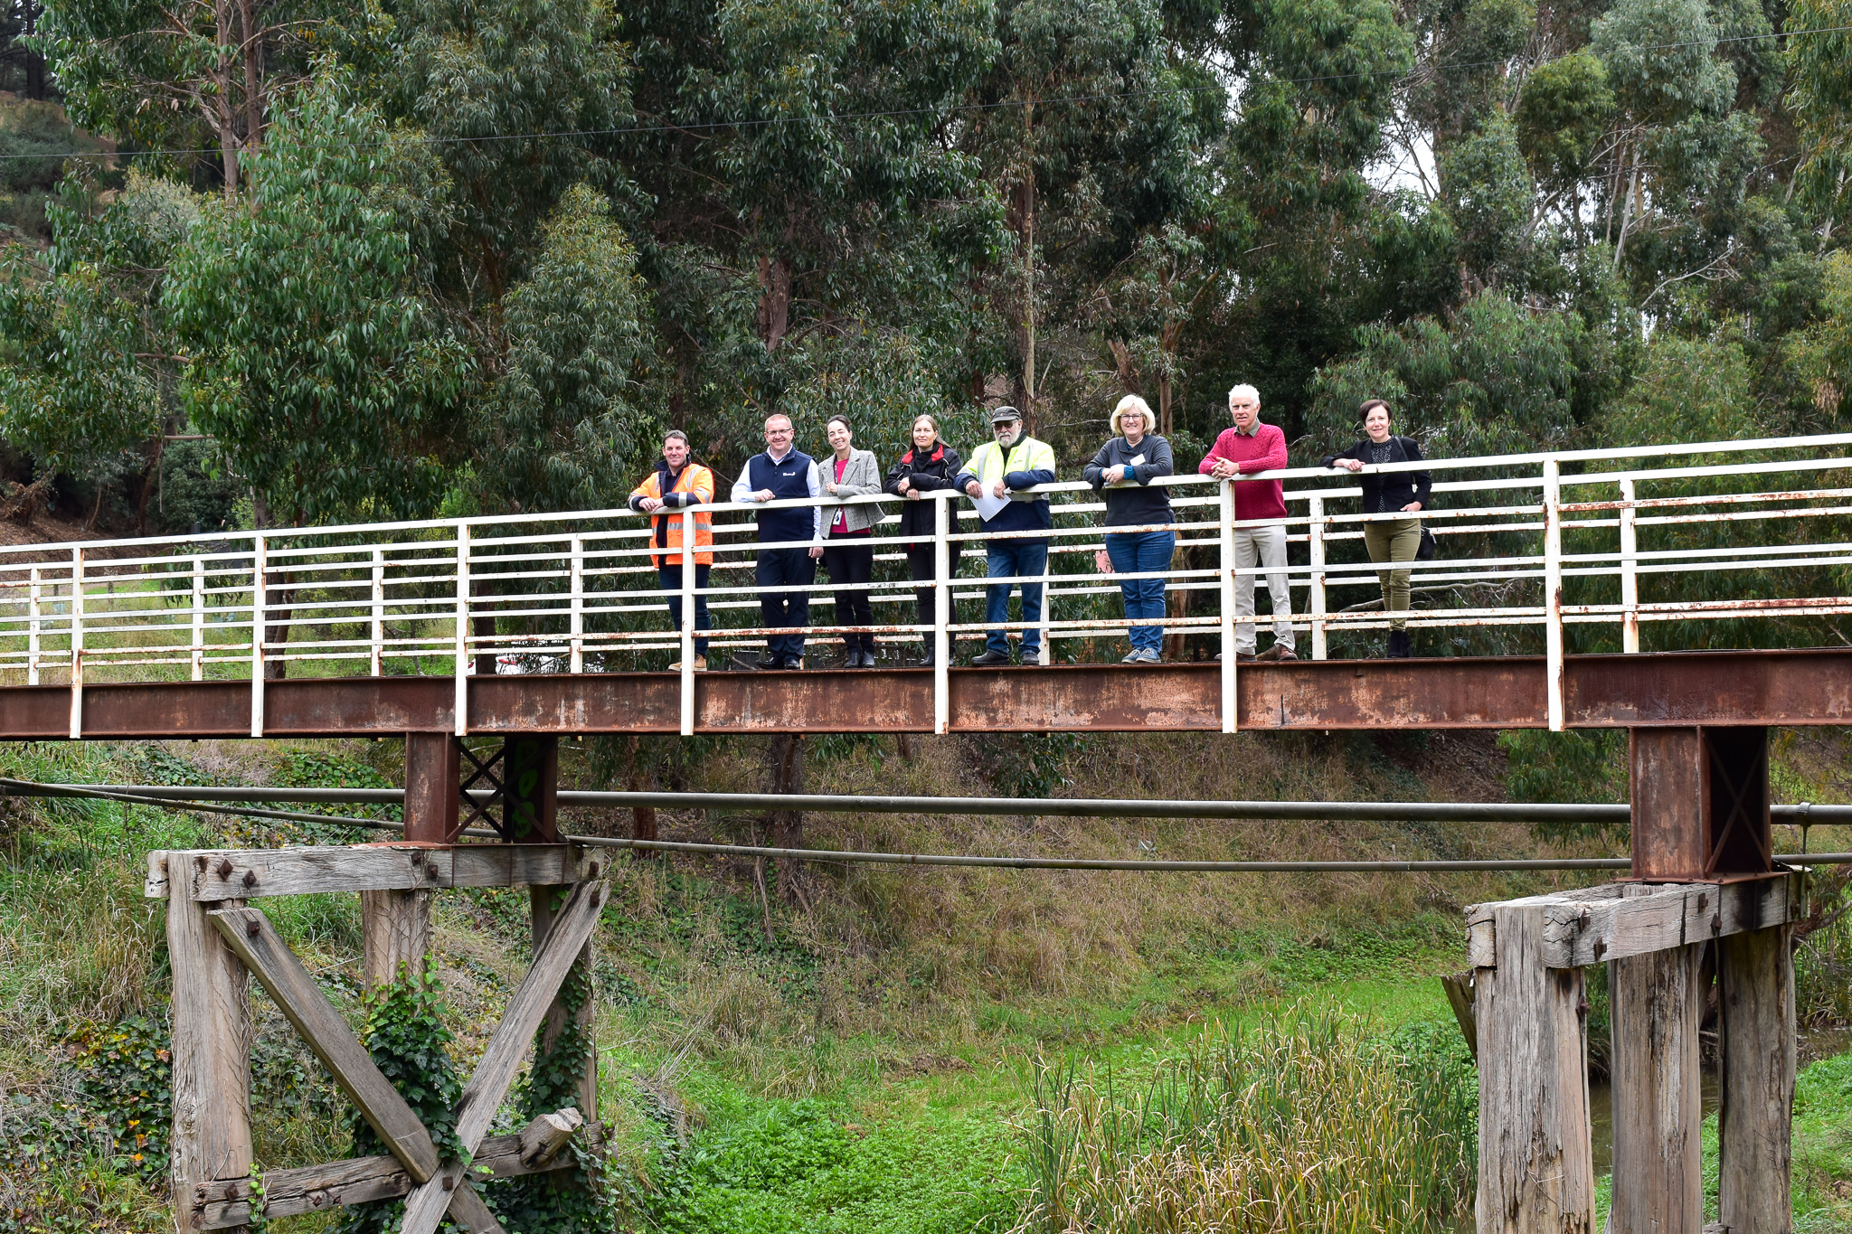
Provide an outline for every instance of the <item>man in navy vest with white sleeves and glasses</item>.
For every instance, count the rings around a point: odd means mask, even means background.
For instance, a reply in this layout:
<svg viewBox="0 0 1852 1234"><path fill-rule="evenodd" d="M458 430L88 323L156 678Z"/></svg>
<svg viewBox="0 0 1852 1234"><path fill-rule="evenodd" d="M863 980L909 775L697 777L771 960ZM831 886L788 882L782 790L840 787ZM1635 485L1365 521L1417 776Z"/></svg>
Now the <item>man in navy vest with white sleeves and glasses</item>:
<svg viewBox="0 0 1852 1234"><path fill-rule="evenodd" d="M789 498L820 498L822 481L817 461L795 450L791 416L780 413L765 420L765 453L746 459L733 481L735 501L783 501ZM822 507L785 507L759 511L761 548L754 566L759 585L759 618L767 629L802 629L809 625L809 592L817 581L817 559L822 557ZM804 668L804 635L772 635L765 640L765 655L757 668Z"/></svg>

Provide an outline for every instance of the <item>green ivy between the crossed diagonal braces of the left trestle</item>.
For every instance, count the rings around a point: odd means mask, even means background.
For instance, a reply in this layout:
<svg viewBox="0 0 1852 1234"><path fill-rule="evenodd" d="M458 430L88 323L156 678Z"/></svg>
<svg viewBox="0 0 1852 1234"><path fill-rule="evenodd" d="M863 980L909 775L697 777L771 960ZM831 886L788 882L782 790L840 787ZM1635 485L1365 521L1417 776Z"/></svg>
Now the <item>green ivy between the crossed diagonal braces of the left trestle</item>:
<svg viewBox="0 0 1852 1234"><path fill-rule="evenodd" d="M450 1051L444 1049L456 1038L444 1027L450 1008L444 1005L435 958L422 973L402 966L394 981L369 990L363 1005L367 1025L361 1030L361 1043L380 1073L424 1123L432 1143L437 1145L439 1160L467 1162L469 1154L456 1132L456 1104L463 1095L463 1080L450 1060ZM380 1136L357 1110L350 1110L346 1117L354 1132L354 1156L383 1151ZM337 1228L341 1234L389 1234L398 1228L404 1208L402 1199L352 1204Z"/></svg>

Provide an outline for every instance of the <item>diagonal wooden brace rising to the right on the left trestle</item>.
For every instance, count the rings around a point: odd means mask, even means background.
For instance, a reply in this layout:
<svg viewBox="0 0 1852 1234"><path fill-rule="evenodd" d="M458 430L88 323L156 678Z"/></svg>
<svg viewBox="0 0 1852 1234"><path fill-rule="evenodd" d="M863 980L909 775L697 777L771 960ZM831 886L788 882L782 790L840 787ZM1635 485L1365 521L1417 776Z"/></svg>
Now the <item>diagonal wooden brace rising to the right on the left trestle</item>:
<svg viewBox="0 0 1852 1234"><path fill-rule="evenodd" d="M509 997L502 1023L489 1036L489 1045L476 1060L476 1071L470 1073L463 1086L463 1097L457 1101L457 1140L463 1141L465 1151L474 1153L489 1130L494 1108L502 1104L507 1086L515 1082L515 1071L533 1043L533 1034L546 1018L546 1008L559 993L559 982L567 979L580 951L585 949L585 940L598 925L607 894L607 882L580 882L572 888L572 895L559 908L546 932L546 942L535 951L533 966ZM461 1167L452 1162L437 1177L413 1190L406 1201L402 1234L433 1234L448 1208L444 1184L448 1182L448 1188L454 1190L457 1178L461 1178Z"/></svg>

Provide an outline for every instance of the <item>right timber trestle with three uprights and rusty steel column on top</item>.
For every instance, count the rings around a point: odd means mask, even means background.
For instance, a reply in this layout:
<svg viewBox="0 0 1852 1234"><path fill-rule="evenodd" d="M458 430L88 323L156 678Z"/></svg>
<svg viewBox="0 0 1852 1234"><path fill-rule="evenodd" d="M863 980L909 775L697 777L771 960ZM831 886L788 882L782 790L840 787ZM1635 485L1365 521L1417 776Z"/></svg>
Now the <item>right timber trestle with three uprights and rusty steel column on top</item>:
<svg viewBox="0 0 1852 1234"><path fill-rule="evenodd" d="M1767 729L1635 729L1633 877L1467 908L1478 1234L1596 1234L1583 969L1608 966L1611 1234L1789 1234L1806 871L1772 860ZM1698 1029L1717 982L1719 1219Z"/></svg>

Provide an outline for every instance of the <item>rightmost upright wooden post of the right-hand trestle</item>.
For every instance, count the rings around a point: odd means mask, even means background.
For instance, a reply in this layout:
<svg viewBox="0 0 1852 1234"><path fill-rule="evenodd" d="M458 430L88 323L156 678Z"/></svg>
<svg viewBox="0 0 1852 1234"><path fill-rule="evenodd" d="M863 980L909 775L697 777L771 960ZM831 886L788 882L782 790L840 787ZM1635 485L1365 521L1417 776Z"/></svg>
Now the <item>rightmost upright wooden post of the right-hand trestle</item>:
<svg viewBox="0 0 1852 1234"><path fill-rule="evenodd" d="M1787 925L1717 945L1717 1215L1732 1230L1793 1230L1795 960Z"/></svg>

